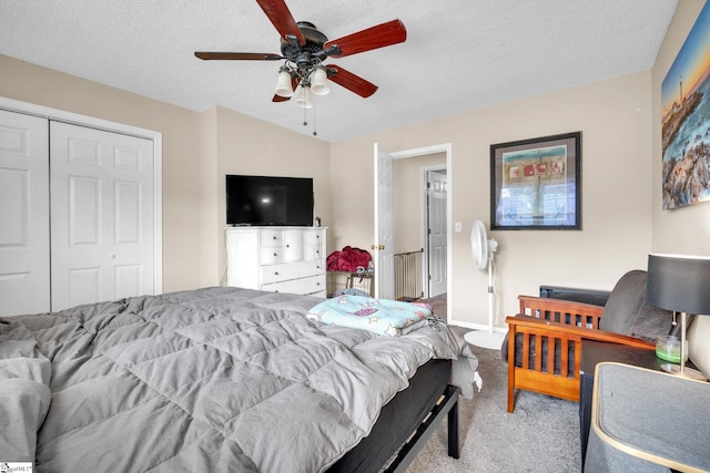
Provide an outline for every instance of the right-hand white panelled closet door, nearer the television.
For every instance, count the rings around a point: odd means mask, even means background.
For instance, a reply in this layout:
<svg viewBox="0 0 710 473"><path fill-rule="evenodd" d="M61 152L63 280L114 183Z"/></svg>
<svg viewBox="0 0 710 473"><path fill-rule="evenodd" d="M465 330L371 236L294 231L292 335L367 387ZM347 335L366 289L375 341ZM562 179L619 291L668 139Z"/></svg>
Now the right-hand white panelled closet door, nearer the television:
<svg viewBox="0 0 710 473"><path fill-rule="evenodd" d="M153 294L153 144L51 122L52 310Z"/></svg>

